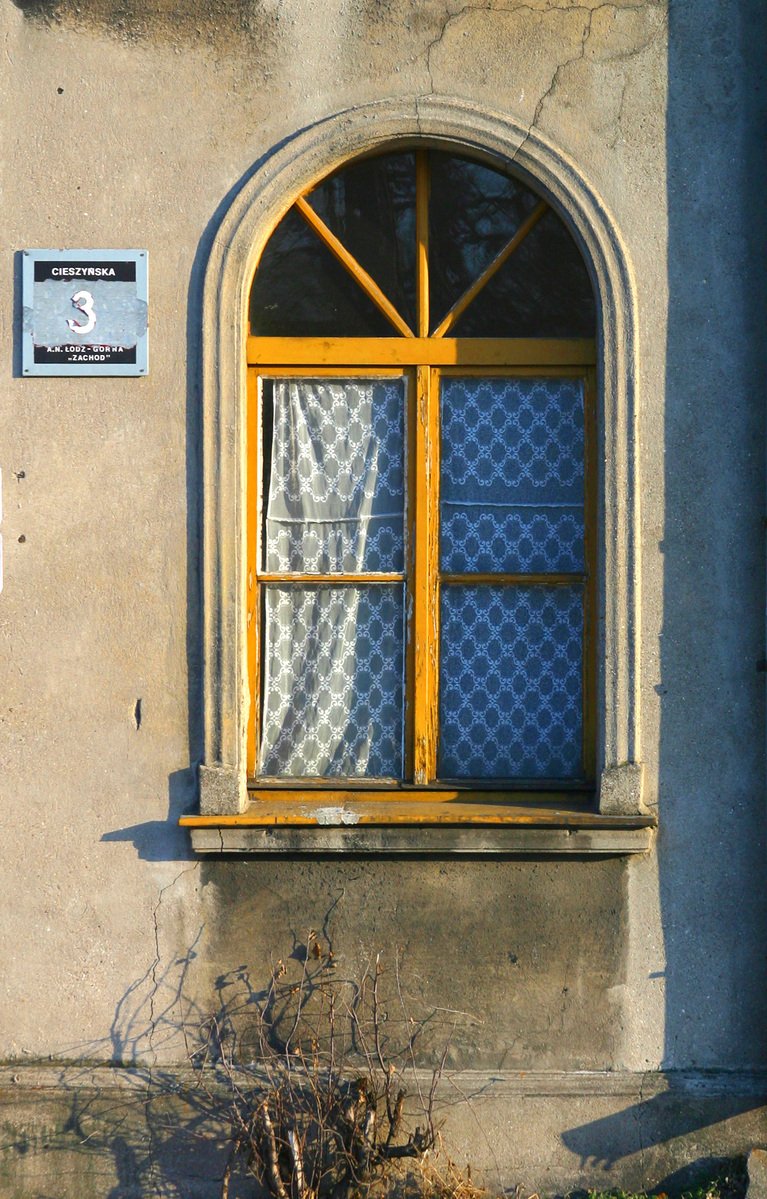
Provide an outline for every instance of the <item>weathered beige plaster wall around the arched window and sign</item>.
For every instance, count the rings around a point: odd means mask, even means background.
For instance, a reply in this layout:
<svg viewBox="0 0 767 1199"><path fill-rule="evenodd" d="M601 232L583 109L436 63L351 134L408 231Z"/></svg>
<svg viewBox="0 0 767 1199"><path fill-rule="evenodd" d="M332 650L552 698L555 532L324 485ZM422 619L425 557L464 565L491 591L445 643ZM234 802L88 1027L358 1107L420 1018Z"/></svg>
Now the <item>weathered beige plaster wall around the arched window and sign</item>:
<svg viewBox="0 0 767 1199"><path fill-rule="evenodd" d="M204 1011L221 975L265 971L316 928L350 970L398 950L415 1002L470 1013L457 1068L765 1067L761 5L2 0L0 40L0 1055L179 1059L181 975ZM201 752L207 249L283 139L350 106L430 94L536 125L624 241L657 849L632 862L194 862L175 819L194 803ZM19 378L18 252L55 246L149 249L149 378ZM546 1108L537 1165L508 1137L506 1180L640 1170L610 1123L632 1110L627 1087L606 1123L591 1108L568 1116L567 1101L561 1116ZM737 1147L756 1109L725 1095L715 1119L674 1134ZM564 1147L590 1123L600 1145L614 1129L612 1157L588 1163L586 1133ZM473 1147L487 1164L482 1135ZM659 1176L674 1155L642 1162ZM104 1177L79 1194L107 1193Z"/></svg>

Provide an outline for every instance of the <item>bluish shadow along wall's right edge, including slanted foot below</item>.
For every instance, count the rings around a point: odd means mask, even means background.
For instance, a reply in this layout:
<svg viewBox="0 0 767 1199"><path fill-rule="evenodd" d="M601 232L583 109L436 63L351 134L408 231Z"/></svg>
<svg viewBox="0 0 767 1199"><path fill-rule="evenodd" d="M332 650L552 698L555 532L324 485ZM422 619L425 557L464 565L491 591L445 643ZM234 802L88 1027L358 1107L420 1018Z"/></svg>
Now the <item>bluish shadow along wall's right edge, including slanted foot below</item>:
<svg viewBox="0 0 767 1199"><path fill-rule="evenodd" d="M564 1134L584 1162L605 1167L689 1134L715 1153L719 1121L767 1102L759 1074L767 1066L765 683L756 673L765 637L766 64L763 0L670 5L657 687L669 1090ZM652 444L651 429L645 438ZM684 1073L723 1065L745 1074Z"/></svg>

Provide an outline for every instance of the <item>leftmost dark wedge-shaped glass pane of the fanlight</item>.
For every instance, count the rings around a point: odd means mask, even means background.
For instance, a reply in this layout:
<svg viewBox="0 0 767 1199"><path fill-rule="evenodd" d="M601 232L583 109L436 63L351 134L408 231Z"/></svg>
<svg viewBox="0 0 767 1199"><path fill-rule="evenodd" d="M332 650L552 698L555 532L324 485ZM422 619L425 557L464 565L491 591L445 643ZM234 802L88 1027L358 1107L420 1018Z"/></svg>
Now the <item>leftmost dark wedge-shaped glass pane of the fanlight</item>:
<svg viewBox="0 0 767 1199"><path fill-rule="evenodd" d="M397 332L291 209L270 237L250 290L262 337L395 337Z"/></svg>

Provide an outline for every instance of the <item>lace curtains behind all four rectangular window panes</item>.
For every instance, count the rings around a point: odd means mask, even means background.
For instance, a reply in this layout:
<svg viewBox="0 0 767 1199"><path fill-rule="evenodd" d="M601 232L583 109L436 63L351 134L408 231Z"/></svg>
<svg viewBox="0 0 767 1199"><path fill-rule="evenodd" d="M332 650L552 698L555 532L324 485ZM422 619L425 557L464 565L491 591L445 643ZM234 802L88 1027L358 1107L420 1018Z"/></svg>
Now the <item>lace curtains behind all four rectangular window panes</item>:
<svg viewBox="0 0 767 1199"><path fill-rule="evenodd" d="M403 777L404 585L294 573L401 572L401 378L268 384L259 772ZM584 568L580 380L452 376L441 386L443 572ZM439 773L581 770L584 591L447 584L440 601Z"/></svg>

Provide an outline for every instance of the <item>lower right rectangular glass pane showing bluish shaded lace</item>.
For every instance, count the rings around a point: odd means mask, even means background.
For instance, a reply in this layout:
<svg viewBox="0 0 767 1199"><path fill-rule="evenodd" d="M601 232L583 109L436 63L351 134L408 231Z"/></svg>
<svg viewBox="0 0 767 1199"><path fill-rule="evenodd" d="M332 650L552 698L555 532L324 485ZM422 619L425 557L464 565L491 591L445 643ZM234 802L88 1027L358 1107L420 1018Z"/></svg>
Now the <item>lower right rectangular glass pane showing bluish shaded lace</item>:
<svg viewBox="0 0 767 1199"><path fill-rule="evenodd" d="M582 773L582 589L443 586L441 778Z"/></svg>

